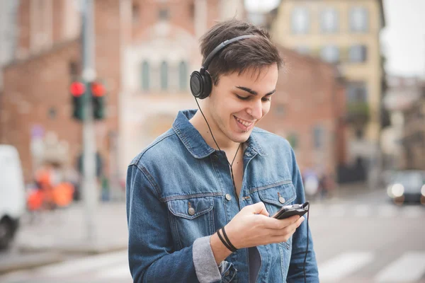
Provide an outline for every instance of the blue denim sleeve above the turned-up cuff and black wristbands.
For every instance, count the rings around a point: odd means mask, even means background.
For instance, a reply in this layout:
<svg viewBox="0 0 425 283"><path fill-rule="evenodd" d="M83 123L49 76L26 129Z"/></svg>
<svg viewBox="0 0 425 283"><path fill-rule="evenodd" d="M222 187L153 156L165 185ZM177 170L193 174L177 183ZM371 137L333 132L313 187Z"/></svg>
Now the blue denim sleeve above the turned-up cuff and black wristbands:
<svg viewBox="0 0 425 283"><path fill-rule="evenodd" d="M128 261L133 282L198 282L193 246L173 250L167 208L152 183L145 168L129 166Z"/></svg>

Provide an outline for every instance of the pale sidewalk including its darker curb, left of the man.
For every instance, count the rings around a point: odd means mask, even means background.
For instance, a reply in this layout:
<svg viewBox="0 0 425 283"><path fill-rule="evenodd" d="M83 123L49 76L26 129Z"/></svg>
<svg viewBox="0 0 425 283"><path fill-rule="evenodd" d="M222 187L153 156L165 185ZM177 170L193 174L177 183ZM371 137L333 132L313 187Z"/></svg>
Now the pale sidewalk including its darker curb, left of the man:
<svg viewBox="0 0 425 283"><path fill-rule="evenodd" d="M125 202L98 204L91 242L87 240L84 214L84 204L76 203L66 209L23 216L12 251L0 254L0 274L62 262L72 256L127 249Z"/></svg>

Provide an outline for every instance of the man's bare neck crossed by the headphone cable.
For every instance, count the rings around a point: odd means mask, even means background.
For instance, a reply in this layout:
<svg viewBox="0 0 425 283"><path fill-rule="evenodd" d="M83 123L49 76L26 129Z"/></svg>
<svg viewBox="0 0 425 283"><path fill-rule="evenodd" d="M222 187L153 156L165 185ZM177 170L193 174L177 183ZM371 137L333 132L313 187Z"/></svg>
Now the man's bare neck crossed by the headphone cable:
<svg viewBox="0 0 425 283"><path fill-rule="evenodd" d="M218 146L222 151L236 151L239 143L231 141L228 137L221 132L221 130L212 122L212 119L208 119L208 114L205 113L205 117L208 120L208 125L210 125L211 132L214 135L215 141L217 141ZM205 142L211 146L213 149L218 149L215 144L214 139L212 139L210 129L208 128L207 123L200 111L197 111L196 114L189 120L193 127L198 130L200 135L205 139Z"/></svg>

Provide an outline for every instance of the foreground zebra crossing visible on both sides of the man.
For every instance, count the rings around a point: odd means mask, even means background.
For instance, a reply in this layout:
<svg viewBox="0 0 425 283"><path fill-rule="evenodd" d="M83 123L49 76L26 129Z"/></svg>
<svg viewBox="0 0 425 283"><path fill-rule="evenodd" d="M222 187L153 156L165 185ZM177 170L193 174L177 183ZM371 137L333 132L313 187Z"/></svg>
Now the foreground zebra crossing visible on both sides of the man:
<svg viewBox="0 0 425 283"><path fill-rule="evenodd" d="M387 259L385 266L368 274L365 269L382 260L378 251L348 250L319 261L322 283L422 283L425 282L425 250L404 251ZM380 266L378 264L378 266ZM0 282L132 282L127 251L94 255L60 262L35 270L14 272L0 277Z"/></svg>

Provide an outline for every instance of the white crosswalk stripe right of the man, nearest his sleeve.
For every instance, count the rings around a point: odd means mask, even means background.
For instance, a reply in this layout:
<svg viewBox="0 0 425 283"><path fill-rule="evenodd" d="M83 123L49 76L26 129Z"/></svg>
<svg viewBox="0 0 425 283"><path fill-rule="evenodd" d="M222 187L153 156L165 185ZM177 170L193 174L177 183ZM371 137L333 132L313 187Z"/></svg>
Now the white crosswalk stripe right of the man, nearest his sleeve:
<svg viewBox="0 0 425 283"><path fill-rule="evenodd" d="M319 265L320 281L341 282L341 279L350 275L373 260L370 252L348 252L331 258L323 265Z"/></svg>

